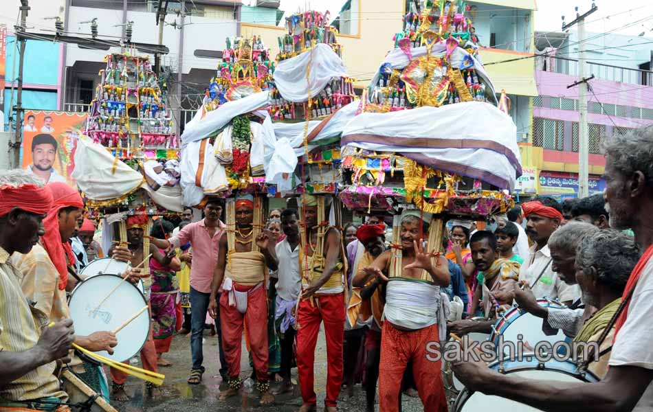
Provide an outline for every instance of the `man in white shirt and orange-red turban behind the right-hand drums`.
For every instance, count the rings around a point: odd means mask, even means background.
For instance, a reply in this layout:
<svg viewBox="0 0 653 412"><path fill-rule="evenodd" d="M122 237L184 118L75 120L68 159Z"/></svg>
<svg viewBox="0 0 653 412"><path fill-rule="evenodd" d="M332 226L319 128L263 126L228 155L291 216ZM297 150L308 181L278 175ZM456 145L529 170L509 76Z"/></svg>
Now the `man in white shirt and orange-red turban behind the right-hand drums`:
<svg viewBox="0 0 653 412"><path fill-rule="evenodd" d="M580 288L566 284L553 271L549 237L560 227L562 214L560 205L552 198L538 196L534 201L522 205L528 223L526 233L533 239L530 255L520 267L520 281L527 281L536 299L559 299L571 305L579 299Z"/></svg>

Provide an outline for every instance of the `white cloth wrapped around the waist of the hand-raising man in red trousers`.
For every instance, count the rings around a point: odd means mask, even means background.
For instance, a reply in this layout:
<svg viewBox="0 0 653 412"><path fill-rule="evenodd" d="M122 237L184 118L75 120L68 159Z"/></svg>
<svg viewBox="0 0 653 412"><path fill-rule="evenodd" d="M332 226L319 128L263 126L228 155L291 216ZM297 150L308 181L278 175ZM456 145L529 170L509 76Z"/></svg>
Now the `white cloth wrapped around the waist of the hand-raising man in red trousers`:
<svg viewBox="0 0 653 412"><path fill-rule="evenodd" d="M393 325L410 330L439 324L447 327L449 299L441 296L440 287L417 280L391 277L386 290L384 318ZM444 336L442 330L439 331Z"/></svg>

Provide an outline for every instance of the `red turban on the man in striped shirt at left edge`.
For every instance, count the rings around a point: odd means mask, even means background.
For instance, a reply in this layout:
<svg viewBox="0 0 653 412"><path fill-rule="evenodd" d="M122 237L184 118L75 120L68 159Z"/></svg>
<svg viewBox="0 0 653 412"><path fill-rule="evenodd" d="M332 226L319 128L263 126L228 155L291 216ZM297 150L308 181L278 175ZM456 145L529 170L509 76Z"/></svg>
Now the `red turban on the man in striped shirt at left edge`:
<svg viewBox="0 0 653 412"><path fill-rule="evenodd" d="M31 183L18 187L0 186L0 216L5 216L14 207L38 215L47 214L52 207L52 192Z"/></svg>

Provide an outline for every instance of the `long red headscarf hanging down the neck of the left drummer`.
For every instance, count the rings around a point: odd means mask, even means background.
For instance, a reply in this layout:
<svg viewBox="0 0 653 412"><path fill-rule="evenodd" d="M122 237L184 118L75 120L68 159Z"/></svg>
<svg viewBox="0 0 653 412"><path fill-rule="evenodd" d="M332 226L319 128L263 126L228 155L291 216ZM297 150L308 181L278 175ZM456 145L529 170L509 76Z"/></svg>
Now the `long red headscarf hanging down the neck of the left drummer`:
<svg viewBox="0 0 653 412"><path fill-rule="evenodd" d="M82 209L84 203L79 193L66 183L55 182L49 183L45 186L52 192L52 208L47 213L47 218L43 219L43 226L45 226L45 236L43 236L43 248L47 251L50 260L56 267L59 273L59 289L64 290L68 280L68 270L66 264L66 256L68 262L74 264L75 255L68 242L61 241L59 234L59 210L64 207L79 207Z"/></svg>

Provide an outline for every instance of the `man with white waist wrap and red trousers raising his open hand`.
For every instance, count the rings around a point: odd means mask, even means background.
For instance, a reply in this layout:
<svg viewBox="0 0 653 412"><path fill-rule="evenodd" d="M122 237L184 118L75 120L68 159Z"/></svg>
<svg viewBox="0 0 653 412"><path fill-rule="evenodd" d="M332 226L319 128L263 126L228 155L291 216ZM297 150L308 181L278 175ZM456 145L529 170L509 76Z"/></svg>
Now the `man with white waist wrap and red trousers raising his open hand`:
<svg viewBox="0 0 653 412"><path fill-rule="evenodd" d="M421 235L428 231L428 224L420 216L419 211L401 216L401 253L385 251L363 269L388 282L379 370L381 412L398 410L399 382L409 361L424 411L447 411L441 361L428 359L427 347L439 342L439 325L445 316L440 308L440 287L449 286L449 264L423 244Z"/></svg>

